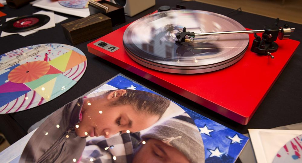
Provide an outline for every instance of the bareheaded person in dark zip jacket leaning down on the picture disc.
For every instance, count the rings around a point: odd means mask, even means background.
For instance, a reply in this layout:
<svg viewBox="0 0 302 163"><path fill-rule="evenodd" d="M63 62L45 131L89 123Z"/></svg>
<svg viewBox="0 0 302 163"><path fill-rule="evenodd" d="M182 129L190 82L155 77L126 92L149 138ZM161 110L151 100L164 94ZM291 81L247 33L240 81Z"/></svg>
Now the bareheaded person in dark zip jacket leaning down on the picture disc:
<svg viewBox="0 0 302 163"><path fill-rule="evenodd" d="M77 162L86 137L146 129L169 107L165 97L138 90L103 91L79 98L52 113L29 139L20 162Z"/></svg>

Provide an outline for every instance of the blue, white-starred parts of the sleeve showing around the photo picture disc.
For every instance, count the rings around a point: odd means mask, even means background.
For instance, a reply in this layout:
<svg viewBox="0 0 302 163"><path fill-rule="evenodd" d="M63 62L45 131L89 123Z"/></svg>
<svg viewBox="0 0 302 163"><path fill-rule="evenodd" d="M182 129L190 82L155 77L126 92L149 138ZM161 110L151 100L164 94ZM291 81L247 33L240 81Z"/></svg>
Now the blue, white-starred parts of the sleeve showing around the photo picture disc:
<svg viewBox="0 0 302 163"><path fill-rule="evenodd" d="M135 89L156 93L121 75L117 75L107 84L118 89ZM249 140L248 137L186 107L179 106L190 115L200 131L204 143L206 163L232 163L236 161L240 152Z"/></svg>

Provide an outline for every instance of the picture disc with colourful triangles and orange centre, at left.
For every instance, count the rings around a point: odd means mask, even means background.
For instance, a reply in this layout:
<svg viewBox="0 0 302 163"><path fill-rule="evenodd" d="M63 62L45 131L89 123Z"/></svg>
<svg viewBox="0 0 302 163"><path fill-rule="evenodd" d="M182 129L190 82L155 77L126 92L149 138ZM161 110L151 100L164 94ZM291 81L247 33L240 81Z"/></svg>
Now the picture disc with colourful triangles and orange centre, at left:
<svg viewBox="0 0 302 163"><path fill-rule="evenodd" d="M85 72L85 54L65 44L27 46L0 56L0 114L44 104L69 90Z"/></svg>

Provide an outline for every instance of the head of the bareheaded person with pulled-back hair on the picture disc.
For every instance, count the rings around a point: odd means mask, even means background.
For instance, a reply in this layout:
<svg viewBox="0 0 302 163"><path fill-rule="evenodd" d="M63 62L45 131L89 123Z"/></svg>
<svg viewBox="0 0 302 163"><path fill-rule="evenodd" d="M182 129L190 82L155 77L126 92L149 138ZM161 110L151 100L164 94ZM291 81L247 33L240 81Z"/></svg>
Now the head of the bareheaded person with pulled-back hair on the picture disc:
<svg viewBox="0 0 302 163"><path fill-rule="evenodd" d="M84 97L77 135L105 136L137 131L156 123L168 108L165 97L146 91L114 90Z"/></svg>

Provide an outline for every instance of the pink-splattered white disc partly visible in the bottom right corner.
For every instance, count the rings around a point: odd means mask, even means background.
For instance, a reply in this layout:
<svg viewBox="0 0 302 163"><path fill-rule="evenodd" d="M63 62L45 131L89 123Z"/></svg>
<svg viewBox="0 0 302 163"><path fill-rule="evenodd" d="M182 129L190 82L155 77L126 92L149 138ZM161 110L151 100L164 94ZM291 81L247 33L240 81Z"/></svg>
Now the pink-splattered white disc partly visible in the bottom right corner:
<svg viewBox="0 0 302 163"><path fill-rule="evenodd" d="M287 142L275 156L273 163L302 162L302 135L296 136Z"/></svg>

